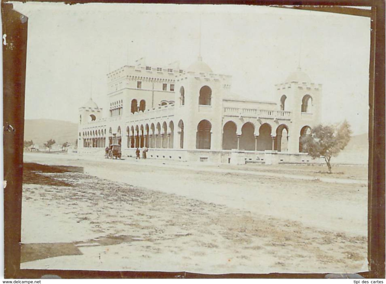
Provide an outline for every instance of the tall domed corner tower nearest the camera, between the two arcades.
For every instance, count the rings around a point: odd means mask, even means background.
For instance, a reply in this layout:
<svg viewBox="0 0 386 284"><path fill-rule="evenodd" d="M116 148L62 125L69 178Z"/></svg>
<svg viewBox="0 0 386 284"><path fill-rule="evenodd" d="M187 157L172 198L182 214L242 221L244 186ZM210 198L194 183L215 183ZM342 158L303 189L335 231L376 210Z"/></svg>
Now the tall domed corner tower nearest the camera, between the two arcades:
<svg viewBox="0 0 386 284"><path fill-rule="evenodd" d="M229 82L230 76L213 73L201 56L176 77L176 118L186 137L183 149L221 149L222 100Z"/></svg>

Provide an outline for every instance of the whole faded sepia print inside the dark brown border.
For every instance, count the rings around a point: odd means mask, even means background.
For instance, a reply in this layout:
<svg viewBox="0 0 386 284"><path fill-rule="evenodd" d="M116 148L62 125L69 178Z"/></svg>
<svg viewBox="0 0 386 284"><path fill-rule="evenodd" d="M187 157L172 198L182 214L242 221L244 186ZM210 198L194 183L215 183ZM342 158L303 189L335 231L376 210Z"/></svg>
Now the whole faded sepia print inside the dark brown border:
<svg viewBox="0 0 386 284"><path fill-rule="evenodd" d="M28 23L20 269L369 270L369 17L10 3Z"/></svg>

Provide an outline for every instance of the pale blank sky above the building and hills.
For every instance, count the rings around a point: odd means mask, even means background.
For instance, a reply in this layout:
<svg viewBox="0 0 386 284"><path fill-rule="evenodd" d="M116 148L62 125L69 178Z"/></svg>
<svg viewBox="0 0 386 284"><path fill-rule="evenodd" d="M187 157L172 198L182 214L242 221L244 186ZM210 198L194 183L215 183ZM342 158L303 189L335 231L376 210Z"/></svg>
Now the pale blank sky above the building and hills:
<svg viewBox="0 0 386 284"><path fill-rule="evenodd" d="M106 74L140 57L186 69L198 56L201 15L201 56L232 75L232 93L273 101L274 84L300 61L323 84L323 122L346 118L354 134L368 131L369 18L246 5L13 3L29 18L26 119L77 122L91 91L107 105Z"/></svg>

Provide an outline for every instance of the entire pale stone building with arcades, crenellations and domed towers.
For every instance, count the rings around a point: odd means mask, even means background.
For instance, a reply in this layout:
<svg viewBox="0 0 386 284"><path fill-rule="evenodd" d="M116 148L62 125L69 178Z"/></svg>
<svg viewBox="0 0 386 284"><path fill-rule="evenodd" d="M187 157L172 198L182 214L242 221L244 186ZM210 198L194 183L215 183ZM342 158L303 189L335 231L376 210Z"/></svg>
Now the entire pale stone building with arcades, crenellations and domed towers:
<svg viewBox="0 0 386 284"><path fill-rule="evenodd" d="M300 68L275 85L266 101L231 95L231 76L201 56L187 69L142 58L107 74L107 117L90 100L79 109L78 152L122 156L149 149L149 159L266 164L308 162L301 136L320 123L322 86Z"/></svg>

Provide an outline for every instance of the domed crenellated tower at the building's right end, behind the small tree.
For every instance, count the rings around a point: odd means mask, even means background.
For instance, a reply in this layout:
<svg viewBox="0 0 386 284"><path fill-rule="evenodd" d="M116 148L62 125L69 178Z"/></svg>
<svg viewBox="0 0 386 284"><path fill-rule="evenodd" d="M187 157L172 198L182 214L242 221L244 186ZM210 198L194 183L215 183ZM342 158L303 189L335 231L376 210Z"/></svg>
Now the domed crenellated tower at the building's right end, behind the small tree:
<svg viewBox="0 0 386 284"><path fill-rule="evenodd" d="M322 84L313 83L298 67L284 83L275 86L278 111L291 118L287 125L288 151L303 152L300 137L320 123Z"/></svg>

